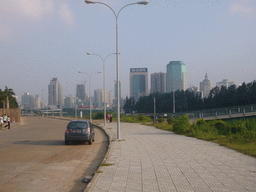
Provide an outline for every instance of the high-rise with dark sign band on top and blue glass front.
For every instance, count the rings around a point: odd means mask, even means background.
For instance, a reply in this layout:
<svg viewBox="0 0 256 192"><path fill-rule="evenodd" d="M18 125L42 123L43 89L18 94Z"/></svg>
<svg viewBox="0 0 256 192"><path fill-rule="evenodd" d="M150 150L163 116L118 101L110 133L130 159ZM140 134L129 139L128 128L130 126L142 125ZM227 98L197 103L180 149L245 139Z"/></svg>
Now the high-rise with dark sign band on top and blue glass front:
<svg viewBox="0 0 256 192"><path fill-rule="evenodd" d="M130 97L135 101L148 95L148 68L130 69Z"/></svg>

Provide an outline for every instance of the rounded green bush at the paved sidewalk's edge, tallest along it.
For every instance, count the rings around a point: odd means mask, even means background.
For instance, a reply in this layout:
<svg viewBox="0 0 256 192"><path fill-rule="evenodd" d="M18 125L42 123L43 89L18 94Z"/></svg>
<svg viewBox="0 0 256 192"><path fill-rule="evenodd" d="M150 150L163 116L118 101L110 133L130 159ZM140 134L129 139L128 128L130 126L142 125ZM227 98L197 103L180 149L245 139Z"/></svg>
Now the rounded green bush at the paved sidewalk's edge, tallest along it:
<svg viewBox="0 0 256 192"><path fill-rule="evenodd" d="M191 131L191 124L187 115L178 117L173 125L173 131L179 134L186 134Z"/></svg>

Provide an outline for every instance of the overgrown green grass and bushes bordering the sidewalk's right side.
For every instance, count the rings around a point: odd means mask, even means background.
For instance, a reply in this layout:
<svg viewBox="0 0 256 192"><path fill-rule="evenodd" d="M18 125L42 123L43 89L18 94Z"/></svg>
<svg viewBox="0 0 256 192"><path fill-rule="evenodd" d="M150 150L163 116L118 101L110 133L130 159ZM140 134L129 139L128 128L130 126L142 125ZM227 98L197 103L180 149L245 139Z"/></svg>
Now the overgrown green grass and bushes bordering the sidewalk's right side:
<svg viewBox="0 0 256 192"><path fill-rule="evenodd" d="M254 120L240 120L232 123L197 120L190 124L181 116L173 124L167 122L151 124L158 129L173 131L198 139L219 143L222 146L256 157L256 123Z"/></svg>

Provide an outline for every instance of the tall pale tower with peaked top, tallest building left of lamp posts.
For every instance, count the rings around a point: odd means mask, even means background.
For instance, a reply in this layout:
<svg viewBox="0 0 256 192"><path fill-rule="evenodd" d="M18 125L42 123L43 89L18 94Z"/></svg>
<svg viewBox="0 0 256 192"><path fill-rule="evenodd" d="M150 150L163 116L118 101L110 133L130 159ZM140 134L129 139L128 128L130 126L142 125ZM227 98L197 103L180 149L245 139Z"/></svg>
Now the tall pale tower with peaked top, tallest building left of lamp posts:
<svg viewBox="0 0 256 192"><path fill-rule="evenodd" d="M53 78L48 85L48 105L63 107L63 86L57 78Z"/></svg>

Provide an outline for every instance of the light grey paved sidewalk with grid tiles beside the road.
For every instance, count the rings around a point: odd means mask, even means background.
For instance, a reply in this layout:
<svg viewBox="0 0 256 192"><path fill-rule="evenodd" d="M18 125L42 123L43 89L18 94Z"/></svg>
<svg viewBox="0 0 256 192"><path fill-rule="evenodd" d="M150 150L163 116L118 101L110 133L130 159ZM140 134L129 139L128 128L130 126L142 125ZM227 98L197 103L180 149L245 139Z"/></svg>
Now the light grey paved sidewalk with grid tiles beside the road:
<svg viewBox="0 0 256 192"><path fill-rule="evenodd" d="M115 140L116 123L106 132ZM154 127L121 123L86 191L256 191L256 158Z"/></svg>

